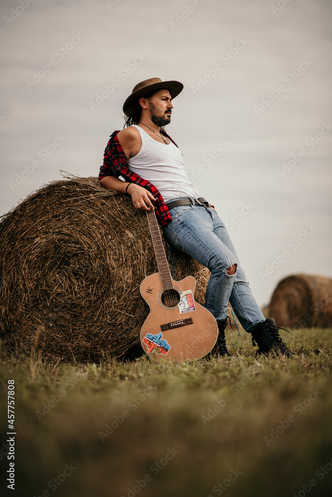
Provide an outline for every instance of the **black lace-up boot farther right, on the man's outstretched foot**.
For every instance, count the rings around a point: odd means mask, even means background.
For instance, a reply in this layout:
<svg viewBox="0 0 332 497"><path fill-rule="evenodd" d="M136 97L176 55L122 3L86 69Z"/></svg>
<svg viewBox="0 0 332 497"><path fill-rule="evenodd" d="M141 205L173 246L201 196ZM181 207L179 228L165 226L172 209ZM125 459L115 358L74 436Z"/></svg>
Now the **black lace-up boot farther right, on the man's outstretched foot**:
<svg viewBox="0 0 332 497"><path fill-rule="evenodd" d="M258 345L256 355L268 355L271 351L274 351L277 355L285 355L286 357L291 357L293 355L280 338L278 330L285 329L276 326L273 318L268 318L263 321L263 323L259 323L259 325L251 331L252 345Z"/></svg>

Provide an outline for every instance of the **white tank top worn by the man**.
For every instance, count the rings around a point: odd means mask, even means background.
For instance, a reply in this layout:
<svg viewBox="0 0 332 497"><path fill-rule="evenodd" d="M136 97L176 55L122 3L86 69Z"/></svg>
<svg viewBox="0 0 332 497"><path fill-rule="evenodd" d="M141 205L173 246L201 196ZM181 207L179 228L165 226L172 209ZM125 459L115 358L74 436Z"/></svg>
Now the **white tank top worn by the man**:
<svg viewBox="0 0 332 497"><path fill-rule="evenodd" d="M165 202L174 198L198 198L196 187L190 182L179 149L172 143L157 142L140 126L138 129L142 147L128 161L129 169L147 181L151 181L162 194Z"/></svg>

